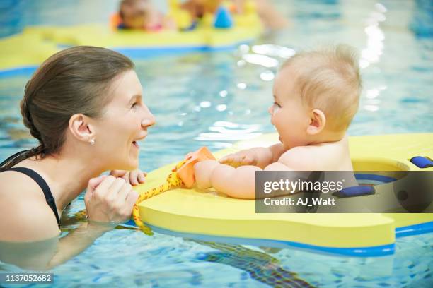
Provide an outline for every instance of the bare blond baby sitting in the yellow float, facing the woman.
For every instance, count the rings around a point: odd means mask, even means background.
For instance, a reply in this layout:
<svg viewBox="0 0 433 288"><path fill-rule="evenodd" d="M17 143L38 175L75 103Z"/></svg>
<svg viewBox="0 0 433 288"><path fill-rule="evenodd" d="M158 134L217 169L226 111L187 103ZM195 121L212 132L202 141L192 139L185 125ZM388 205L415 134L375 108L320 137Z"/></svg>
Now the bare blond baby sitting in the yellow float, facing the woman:
<svg viewBox="0 0 433 288"><path fill-rule="evenodd" d="M275 78L268 109L281 143L195 164L199 188L214 187L234 198L255 198L256 171L352 171L347 128L361 92L351 47L302 52Z"/></svg>

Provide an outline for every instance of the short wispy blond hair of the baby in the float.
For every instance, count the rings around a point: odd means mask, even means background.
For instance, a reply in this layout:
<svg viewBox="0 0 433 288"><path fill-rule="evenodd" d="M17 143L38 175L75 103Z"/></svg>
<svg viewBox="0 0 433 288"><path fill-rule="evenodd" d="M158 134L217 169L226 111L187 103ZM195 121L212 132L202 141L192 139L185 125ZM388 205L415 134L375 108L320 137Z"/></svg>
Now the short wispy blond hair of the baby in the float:
<svg viewBox="0 0 433 288"><path fill-rule="evenodd" d="M335 47L300 52L282 69L294 69L294 89L304 105L321 109L330 131L345 131L359 105L362 83L354 48Z"/></svg>

